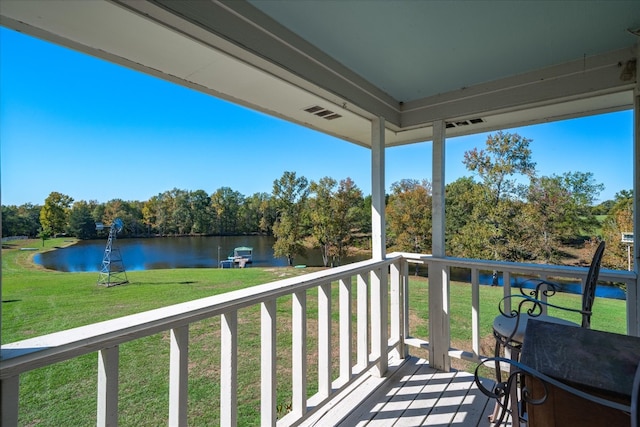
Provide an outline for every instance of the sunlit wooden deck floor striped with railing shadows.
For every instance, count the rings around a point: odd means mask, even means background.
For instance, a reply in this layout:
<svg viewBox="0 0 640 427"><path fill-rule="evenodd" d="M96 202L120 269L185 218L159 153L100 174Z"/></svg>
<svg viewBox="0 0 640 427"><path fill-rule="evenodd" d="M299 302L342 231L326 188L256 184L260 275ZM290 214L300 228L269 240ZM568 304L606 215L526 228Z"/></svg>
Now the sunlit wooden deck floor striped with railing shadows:
<svg viewBox="0 0 640 427"><path fill-rule="evenodd" d="M477 427L489 426L493 411L493 401L478 390L473 374L439 372L418 358L390 365L385 380L364 379L335 399L301 425Z"/></svg>

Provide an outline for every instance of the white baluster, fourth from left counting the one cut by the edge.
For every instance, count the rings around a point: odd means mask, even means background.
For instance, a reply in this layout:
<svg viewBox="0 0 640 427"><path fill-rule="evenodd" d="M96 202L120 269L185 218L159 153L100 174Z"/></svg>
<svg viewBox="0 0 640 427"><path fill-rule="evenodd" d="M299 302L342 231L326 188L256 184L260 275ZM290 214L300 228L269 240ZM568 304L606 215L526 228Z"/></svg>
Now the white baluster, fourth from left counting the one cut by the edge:
<svg viewBox="0 0 640 427"><path fill-rule="evenodd" d="M220 425L238 425L238 312L220 318Z"/></svg>

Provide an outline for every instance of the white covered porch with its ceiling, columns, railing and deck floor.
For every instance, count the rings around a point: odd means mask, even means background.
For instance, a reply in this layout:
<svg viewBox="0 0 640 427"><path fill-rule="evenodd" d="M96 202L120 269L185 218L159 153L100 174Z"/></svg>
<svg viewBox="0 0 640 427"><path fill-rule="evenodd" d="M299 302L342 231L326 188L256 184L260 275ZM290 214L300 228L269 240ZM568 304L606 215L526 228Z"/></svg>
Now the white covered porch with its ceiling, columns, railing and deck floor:
<svg viewBox="0 0 640 427"><path fill-rule="evenodd" d="M241 424L245 309L260 312L253 388L261 425L485 425L492 402L470 373L452 369L452 361L493 355L481 346L495 313L480 309L480 272L500 272L509 295L512 275L583 280L587 270L448 257L446 138L633 109L634 149L621 155L634 159L637 230L639 19L640 3L626 1L3 1L3 26L370 148L373 249L368 261L5 344L2 426L18 425L21 375L87 354L97 359L97 424L117 425L121 347L158 333L168 336L166 419L187 425L190 330L208 319L220 323L219 424ZM423 141L433 145L433 247L387 253L385 149ZM600 280L626 285L627 333L639 336L637 245L632 259L632 271L603 270ZM429 272L429 315L417 320L409 310L421 296L410 286L413 264ZM458 346L452 267L471 277L471 328ZM279 413L283 300L291 310L291 399Z"/></svg>

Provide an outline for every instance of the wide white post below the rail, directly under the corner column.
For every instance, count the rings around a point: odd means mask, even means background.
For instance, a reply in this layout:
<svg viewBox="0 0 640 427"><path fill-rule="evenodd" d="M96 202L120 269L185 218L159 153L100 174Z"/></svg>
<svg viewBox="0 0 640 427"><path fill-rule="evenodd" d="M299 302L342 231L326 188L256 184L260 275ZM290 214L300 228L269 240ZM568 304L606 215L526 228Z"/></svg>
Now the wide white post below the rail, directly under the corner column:
<svg viewBox="0 0 640 427"><path fill-rule="evenodd" d="M378 377L387 373L389 365L388 346L388 274L379 268L371 271L371 348L374 359L377 359L376 370Z"/></svg>

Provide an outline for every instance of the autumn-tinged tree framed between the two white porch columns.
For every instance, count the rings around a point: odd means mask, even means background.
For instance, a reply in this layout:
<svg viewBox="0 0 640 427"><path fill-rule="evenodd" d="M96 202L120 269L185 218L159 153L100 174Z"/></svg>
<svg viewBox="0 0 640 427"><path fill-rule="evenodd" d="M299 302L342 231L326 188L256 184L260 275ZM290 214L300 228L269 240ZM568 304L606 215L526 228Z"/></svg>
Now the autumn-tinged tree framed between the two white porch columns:
<svg viewBox="0 0 640 427"><path fill-rule="evenodd" d="M398 250L431 250L431 196L431 183L427 180L403 179L391 184L386 216L390 237Z"/></svg>

